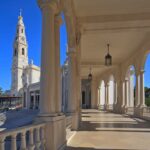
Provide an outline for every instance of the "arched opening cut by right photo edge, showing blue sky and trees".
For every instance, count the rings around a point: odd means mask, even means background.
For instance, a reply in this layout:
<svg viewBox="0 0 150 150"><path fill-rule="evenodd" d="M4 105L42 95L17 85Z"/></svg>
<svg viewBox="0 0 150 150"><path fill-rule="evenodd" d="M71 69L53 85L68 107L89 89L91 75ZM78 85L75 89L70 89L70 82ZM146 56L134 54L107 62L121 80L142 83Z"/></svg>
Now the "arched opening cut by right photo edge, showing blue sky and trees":
<svg viewBox="0 0 150 150"><path fill-rule="evenodd" d="M145 88L145 105L150 107L150 53L146 57L144 66L144 88Z"/></svg>

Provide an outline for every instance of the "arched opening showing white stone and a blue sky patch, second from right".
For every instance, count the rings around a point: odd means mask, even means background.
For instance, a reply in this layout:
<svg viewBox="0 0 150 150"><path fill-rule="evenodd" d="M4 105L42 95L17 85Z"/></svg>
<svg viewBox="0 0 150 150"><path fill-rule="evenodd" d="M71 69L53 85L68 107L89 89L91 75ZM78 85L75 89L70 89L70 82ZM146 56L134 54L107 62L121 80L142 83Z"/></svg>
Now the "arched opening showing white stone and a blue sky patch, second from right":
<svg viewBox="0 0 150 150"><path fill-rule="evenodd" d="M135 67L129 66L126 77L125 77L125 107L127 108L126 113L133 114L134 107L136 106L135 101L135 88L136 88L136 75Z"/></svg>

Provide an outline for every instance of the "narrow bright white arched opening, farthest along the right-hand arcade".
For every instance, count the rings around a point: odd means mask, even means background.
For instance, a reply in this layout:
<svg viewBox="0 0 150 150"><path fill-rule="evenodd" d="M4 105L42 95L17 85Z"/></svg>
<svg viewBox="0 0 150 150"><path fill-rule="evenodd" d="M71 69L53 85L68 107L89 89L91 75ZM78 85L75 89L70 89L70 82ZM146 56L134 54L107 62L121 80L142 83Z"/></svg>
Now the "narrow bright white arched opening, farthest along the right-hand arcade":
<svg viewBox="0 0 150 150"><path fill-rule="evenodd" d="M104 109L104 105L105 105L105 82L104 80L102 80L99 86L99 108Z"/></svg>

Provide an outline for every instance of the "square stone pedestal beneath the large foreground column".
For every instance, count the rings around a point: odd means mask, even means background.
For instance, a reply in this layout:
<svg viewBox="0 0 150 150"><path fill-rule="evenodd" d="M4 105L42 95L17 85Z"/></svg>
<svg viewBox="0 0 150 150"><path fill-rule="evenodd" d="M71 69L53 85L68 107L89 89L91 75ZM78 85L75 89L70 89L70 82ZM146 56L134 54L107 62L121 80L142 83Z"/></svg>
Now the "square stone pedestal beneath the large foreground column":
<svg viewBox="0 0 150 150"><path fill-rule="evenodd" d="M64 150L66 147L65 115L40 114L35 123L45 123L45 140L47 150Z"/></svg>

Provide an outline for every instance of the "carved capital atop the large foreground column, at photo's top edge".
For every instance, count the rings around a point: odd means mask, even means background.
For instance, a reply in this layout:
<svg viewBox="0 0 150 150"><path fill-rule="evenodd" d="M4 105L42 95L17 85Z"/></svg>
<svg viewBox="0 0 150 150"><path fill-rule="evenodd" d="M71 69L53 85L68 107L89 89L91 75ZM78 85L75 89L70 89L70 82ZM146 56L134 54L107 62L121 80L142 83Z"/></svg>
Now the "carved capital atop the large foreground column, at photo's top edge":
<svg viewBox="0 0 150 150"><path fill-rule="evenodd" d="M42 10L53 10L56 13L59 10L58 0L38 0L38 5Z"/></svg>

